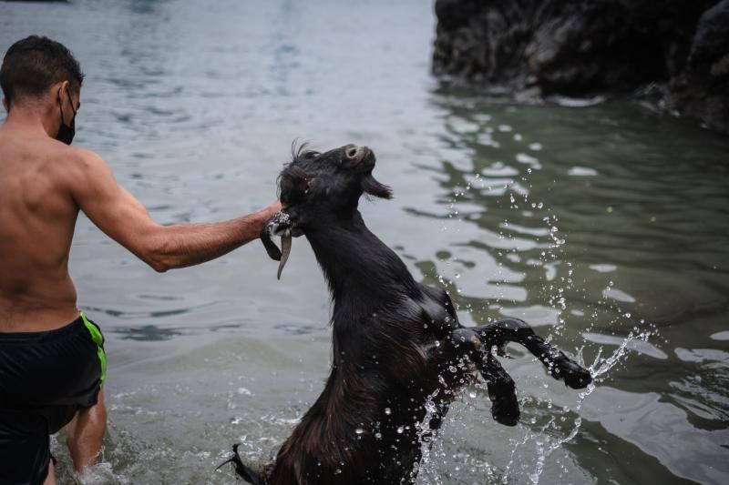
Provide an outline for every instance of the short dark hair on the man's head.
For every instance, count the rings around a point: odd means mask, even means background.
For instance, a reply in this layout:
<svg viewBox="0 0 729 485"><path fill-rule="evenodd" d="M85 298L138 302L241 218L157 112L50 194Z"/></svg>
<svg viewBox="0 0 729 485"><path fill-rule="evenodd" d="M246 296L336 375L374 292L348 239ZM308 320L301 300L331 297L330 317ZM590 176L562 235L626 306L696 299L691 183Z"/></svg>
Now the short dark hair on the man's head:
<svg viewBox="0 0 729 485"><path fill-rule="evenodd" d="M0 86L8 107L18 97L42 96L60 81L68 81L75 92L84 82L81 66L65 45L30 35L7 49L0 67Z"/></svg>

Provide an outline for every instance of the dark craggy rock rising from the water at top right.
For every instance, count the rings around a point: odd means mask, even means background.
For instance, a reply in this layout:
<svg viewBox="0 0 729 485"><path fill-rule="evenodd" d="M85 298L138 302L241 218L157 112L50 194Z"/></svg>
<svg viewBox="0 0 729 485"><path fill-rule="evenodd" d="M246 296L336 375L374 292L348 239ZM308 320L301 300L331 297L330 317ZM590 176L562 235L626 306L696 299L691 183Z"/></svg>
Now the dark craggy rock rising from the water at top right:
<svg viewBox="0 0 729 485"><path fill-rule="evenodd" d="M436 75L518 98L658 93L729 133L729 0L436 0L436 16Z"/></svg>

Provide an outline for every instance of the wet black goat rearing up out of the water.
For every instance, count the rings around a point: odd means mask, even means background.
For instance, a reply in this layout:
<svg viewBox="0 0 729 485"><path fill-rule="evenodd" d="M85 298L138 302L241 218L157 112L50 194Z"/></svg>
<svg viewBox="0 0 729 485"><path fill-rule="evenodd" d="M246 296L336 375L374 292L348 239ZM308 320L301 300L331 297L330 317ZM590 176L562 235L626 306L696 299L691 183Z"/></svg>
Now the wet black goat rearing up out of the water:
<svg viewBox="0 0 729 485"><path fill-rule="evenodd" d="M229 460L251 483L415 482L424 433L438 429L457 390L477 373L487 382L494 419L517 423L514 381L492 351L509 341L529 349L570 388L591 381L525 322L462 327L444 290L417 283L357 210L363 193L392 197L372 176L374 167L367 147L300 149L279 177L283 208L264 227L262 241L281 260L279 277L292 230L311 243L334 300L334 361L322 395L266 470L252 471L237 451ZM282 237L282 252L272 236Z"/></svg>

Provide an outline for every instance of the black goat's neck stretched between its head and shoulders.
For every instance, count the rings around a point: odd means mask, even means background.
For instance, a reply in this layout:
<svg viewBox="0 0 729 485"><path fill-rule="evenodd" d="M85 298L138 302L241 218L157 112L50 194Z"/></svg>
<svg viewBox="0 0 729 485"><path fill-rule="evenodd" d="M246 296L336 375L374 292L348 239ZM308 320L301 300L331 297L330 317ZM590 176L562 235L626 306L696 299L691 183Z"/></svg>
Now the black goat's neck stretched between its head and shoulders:
<svg viewBox="0 0 729 485"><path fill-rule="evenodd" d="M338 306L364 311L403 294L416 283L405 263L365 225L359 211L334 221L322 220L306 232Z"/></svg>

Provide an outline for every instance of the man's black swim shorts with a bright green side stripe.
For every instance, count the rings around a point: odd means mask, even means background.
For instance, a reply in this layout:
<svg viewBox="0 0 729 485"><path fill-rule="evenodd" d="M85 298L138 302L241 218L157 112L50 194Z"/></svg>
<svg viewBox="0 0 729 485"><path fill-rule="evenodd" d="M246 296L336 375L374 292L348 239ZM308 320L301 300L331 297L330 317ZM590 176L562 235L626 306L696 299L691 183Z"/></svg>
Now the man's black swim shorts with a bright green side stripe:
<svg viewBox="0 0 729 485"><path fill-rule="evenodd" d="M81 313L62 328L0 333L0 485L42 484L49 435L97 403L104 337Z"/></svg>

